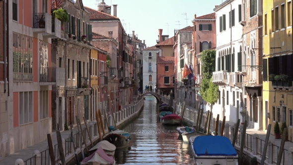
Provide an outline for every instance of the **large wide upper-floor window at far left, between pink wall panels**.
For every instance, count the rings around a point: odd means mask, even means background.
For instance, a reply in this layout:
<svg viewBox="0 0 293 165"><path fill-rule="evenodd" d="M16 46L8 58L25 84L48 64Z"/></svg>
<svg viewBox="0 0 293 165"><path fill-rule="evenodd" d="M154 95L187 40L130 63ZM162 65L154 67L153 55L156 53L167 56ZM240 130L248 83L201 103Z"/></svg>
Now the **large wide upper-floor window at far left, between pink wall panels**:
<svg viewBox="0 0 293 165"><path fill-rule="evenodd" d="M32 37L13 33L13 80L33 80L33 39ZM42 54L41 54L42 55Z"/></svg>

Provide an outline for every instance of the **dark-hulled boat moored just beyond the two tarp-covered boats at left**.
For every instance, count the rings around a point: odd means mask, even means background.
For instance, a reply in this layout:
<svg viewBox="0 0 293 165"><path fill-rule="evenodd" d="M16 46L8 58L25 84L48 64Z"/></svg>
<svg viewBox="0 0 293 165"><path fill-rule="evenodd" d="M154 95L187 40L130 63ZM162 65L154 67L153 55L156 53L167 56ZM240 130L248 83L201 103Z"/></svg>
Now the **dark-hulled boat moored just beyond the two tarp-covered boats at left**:
<svg viewBox="0 0 293 165"><path fill-rule="evenodd" d="M128 147L129 141L131 140L131 136L128 132L123 130L115 130L108 132L103 140L106 140L116 146L116 149L123 149Z"/></svg>

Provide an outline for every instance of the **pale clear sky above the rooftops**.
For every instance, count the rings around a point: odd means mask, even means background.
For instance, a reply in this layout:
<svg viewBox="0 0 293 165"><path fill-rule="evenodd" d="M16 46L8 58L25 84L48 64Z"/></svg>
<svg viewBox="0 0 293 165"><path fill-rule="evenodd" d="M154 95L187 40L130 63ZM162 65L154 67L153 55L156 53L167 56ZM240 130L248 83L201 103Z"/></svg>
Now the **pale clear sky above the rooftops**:
<svg viewBox="0 0 293 165"><path fill-rule="evenodd" d="M97 9L102 0L82 0L83 5ZM140 40L146 40L147 47L154 46L158 29L163 35L174 36L174 29L192 26L197 16L214 12L215 5L225 0L104 0L107 5L117 4L117 17L127 34L135 31ZM186 13L186 15L184 14ZM187 19L186 19L187 18ZM178 22L179 21L179 22ZM180 24L180 25L178 25Z"/></svg>

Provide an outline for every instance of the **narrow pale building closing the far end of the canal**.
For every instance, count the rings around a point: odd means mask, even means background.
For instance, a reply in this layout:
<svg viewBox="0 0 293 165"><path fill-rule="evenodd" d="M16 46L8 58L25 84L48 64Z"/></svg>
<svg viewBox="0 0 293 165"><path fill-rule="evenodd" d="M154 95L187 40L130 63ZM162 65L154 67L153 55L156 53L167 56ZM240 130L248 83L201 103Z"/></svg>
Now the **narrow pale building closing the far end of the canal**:
<svg viewBox="0 0 293 165"><path fill-rule="evenodd" d="M159 48L152 46L143 50L143 89L146 85L156 85L156 61Z"/></svg>

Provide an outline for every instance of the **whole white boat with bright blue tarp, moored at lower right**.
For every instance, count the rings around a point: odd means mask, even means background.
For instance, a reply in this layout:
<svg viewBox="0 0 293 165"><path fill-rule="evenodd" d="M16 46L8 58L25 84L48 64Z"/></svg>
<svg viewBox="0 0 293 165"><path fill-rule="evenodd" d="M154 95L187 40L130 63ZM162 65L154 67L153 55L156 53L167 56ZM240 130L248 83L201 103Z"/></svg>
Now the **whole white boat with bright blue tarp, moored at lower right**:
<svg viewBox="0 0 293 165"><path fill-rule="evenodd" d="M238 165L238 155L223 136L197 136L190 145L196 165Z"/></svg>

